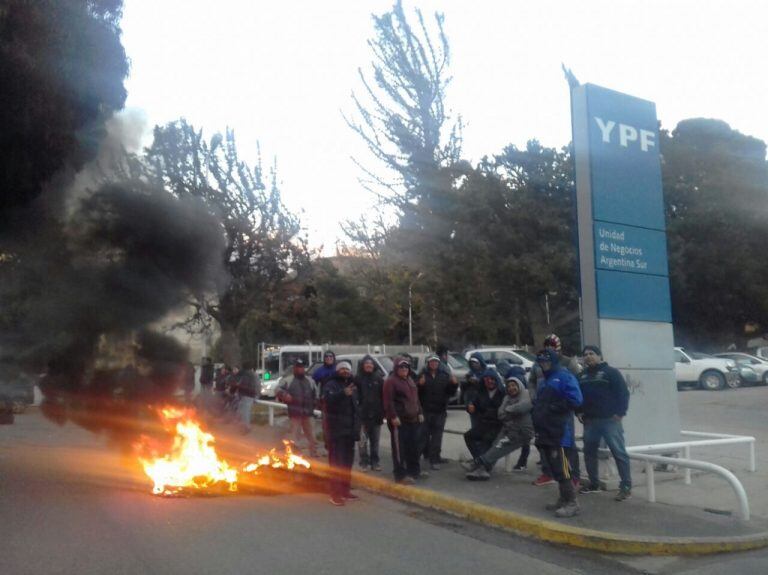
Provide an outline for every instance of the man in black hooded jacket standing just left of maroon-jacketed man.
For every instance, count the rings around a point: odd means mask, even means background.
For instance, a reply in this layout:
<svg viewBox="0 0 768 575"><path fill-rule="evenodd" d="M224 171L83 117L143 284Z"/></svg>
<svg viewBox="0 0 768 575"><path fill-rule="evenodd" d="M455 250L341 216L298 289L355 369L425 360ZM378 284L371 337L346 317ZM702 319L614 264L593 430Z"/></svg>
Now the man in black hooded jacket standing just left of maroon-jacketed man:
<svg viewBox="0 0 768 575"><path fill-rule="evenodd" d="M360 394L360 467L363 471L381 471L379 438L384 421L384 378L376 372L370 355L363 357L355 377Z"/></svg>

